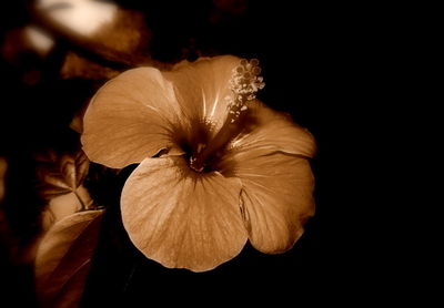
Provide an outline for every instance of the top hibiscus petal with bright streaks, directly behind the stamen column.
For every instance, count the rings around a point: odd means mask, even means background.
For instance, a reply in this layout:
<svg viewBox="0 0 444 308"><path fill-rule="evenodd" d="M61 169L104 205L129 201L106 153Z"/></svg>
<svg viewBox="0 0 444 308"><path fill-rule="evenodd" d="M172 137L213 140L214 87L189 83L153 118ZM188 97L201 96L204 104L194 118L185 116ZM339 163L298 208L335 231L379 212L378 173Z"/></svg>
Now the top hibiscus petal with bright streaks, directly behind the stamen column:
<svg viewBox="0 0 444 308"><path fill-rule="evenodd" d="M229 85L240 61L232 55L201 58L193 63L181 62L163 75L173 82L184 115L192 121L211 121L216 132L228 115L225 97L233 95Z"/></svg>

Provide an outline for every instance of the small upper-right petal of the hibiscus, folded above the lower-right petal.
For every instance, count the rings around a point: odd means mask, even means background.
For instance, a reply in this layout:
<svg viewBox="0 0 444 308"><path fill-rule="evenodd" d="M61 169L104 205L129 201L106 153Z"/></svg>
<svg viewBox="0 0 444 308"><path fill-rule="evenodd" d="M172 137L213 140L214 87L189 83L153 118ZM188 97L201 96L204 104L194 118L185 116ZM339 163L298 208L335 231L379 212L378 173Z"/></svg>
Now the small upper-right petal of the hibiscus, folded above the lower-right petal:
<svg viewBox="0 0 444 308"><path fill-rule="evenodd" d="M248 132L231 143L239 151L263 148L313 157L316 146L312 134L290 116L269 109L260 101L249 102Z"/></svg>

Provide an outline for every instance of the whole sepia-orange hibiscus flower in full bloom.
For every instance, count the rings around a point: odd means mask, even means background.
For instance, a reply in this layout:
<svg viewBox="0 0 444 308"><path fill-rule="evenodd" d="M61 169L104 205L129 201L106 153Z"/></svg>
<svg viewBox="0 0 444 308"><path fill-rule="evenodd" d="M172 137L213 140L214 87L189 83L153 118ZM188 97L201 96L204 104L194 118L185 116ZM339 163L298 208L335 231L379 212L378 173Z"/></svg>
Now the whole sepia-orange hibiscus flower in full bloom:
<svg viewBox="0 0 444 308"><path fill-rule="evenodd" d="M314 213L312 135L255 99L258 60L123 72L92 99L82 134L93 162L140 163L124 184L130 239L165 267L209 270L250 240L290 249Z"/></svg>

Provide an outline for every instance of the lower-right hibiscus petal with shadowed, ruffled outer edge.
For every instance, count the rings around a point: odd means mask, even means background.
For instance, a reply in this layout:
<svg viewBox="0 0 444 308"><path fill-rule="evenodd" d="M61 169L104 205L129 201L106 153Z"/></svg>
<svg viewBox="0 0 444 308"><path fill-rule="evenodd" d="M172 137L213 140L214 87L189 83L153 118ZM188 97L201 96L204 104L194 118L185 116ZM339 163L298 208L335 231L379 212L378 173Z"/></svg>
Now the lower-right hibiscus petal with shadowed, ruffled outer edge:
<svg viewBox="0 0 444 308"><path fill-rule="evenodd" d="M224 171L242 181L244 220L251 244L263 253L290 249L314 214L314 179L309 161L284 152L231 152Z"/></svg>

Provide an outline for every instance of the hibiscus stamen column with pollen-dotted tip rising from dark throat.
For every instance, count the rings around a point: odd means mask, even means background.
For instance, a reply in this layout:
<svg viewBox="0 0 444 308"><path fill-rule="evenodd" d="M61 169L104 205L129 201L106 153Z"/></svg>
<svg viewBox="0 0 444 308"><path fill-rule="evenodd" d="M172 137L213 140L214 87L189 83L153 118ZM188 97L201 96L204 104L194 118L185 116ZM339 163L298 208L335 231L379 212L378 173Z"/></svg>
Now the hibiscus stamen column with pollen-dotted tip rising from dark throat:
<svg viewBox="0 0 444 308"><path fill-rule="evenodd" d="M245 59L233 69L230 80L230 90L234 95L225 97L229 101L228 116L218 134L208 143L198 143L198 146L190 157L190 167L202 172L218 151L223 148L243 129L244 120L249 107L246 102L256 97L256 92L265 86L263 78L260 76L261 68L259 60Z"/></svg>

